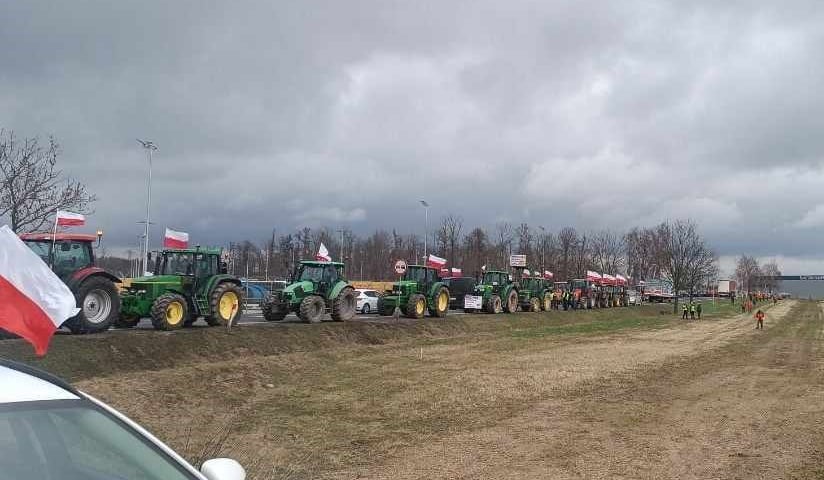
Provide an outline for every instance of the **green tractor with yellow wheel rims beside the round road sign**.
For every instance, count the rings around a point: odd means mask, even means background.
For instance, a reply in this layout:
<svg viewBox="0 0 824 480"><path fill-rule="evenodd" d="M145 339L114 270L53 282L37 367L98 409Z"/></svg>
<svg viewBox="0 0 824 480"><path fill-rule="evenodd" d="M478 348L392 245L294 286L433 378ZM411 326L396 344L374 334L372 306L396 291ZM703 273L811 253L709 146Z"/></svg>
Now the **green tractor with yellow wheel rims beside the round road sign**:
<svg viewBox="0 0 824 480"><path fill-rule="evenodd" d="M449 312L449 288L441 281L437 269L409 265L403 278L378 299L381 315L392 315L395 307L400 307L408 318L423 318L427 310L430 316L443 318Z"/></svg>

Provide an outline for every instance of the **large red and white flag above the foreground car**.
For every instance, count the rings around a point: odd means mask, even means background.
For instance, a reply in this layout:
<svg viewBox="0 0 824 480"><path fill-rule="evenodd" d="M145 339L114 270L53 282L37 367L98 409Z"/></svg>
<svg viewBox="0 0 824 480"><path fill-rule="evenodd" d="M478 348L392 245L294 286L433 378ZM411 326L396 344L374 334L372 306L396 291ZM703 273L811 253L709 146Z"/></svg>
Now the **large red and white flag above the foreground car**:
<svg viewBox="0 0 824 480"><path fill-rule="evenodd" d="M0 328L42 356L57 328L79 311L69 287L8 226L0 228Z"/></svg>

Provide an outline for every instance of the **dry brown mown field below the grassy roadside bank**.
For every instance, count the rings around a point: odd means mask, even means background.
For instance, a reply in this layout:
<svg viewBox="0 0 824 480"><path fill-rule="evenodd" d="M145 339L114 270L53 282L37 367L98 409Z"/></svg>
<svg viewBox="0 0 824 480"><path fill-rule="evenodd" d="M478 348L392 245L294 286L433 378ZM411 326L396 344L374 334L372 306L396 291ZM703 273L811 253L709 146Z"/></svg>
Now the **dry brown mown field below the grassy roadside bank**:
<svg viewBox="0 0 824 480"><path fill-rule="evenodd" d="M80 387L250 478L820 478L822 309L257 355ZM171 365L170 365L171 367ZM168 405L179 405L168 408Z"/></svg>

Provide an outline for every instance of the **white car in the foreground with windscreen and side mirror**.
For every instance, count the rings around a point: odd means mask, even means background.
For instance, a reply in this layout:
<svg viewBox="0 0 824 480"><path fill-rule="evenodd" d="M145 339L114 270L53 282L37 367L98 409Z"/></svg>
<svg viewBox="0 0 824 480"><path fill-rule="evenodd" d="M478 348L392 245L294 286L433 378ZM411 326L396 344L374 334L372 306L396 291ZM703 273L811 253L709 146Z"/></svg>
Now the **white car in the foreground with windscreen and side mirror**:
<svg viewBox="0 0 824 480"><path fill-rule="evenodd" d="M234 460L200 471L103 402L0 359L0 480L244 480Z"/></svg>

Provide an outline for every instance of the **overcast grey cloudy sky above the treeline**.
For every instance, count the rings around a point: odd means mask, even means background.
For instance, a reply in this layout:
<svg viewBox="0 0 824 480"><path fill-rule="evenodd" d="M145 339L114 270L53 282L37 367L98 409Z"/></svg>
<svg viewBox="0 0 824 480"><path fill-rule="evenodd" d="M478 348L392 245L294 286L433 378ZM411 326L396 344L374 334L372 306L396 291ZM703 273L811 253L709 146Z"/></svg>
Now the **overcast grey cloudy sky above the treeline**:
<svg viewBox="0 0 824 480"><path fill-rule="evenodd" d="M824 273L820 2L0 4L0 127L52 134L110 245L694 218ZM726 260L725 260L726 261ZM722 263L722 265L725 265Z"/></svg>

